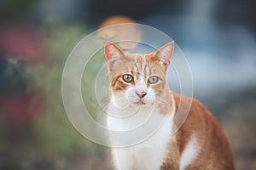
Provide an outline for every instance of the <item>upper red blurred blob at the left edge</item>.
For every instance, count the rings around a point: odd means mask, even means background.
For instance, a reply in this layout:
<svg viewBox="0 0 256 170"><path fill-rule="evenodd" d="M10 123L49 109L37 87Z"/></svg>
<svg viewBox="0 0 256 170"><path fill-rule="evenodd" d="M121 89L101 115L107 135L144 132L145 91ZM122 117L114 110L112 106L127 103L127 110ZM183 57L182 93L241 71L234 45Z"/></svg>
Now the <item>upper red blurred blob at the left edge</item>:
<svg viewBox="0 0 256 170"><path fill-rule="evenodd" d="M0 49L8 57L37 62L45 52L44 34L34 26L14 24L0 28Z"/></svg>

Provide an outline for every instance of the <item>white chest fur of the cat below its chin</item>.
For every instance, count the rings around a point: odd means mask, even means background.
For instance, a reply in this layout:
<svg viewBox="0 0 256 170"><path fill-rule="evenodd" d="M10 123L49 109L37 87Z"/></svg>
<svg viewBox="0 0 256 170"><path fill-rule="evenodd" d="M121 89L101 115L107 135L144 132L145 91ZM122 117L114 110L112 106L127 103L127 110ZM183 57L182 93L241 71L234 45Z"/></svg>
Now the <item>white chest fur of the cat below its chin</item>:
<svg viewBox="0 0 256 170"><path fill-rule="evenodd" d="M110 112L113 112L114 108L110 106L109 110L112 110ZM166 146L172 137L171 130L174 111L167 115L163 115L159 113L158 109L154 109L155 114L150 114L150 110L150 108L143 108L127 119L119 119L113 116L108 116L108 129L123 131L123 133L126 133L130 129L140 126L143 122L146 122L148 120L148 116L154 116L153 120L163 120L162 124L156 126L159 128L157 130L154 129L156 130L155 133L153 133L153 135L147 140L144 140L143 142L137 141L137 144L129 147L112 149L113 163L118 170L160 169L160 166L166 156ZM122 114L125 115L124 112ZM154 124L152 121L151 123ZM137 136L134 136L134 138L137 138L139 135L140 134L138 133ZM110 134L110 141L116 143L116 140L123 139L114 138Z"/></svg>

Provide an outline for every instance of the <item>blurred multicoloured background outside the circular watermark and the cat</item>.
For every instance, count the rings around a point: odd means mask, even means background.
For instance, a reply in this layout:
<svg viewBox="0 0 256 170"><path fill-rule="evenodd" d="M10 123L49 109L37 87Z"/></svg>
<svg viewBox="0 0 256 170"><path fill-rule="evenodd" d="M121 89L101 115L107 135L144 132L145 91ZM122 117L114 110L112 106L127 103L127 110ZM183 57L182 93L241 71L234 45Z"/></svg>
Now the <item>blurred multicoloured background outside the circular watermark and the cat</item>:
<svg viewBox="0 0 256 170"><path fill-rule="evenodd" d="M114 15L176 41L194 97L223 125L236 169L256 169L253 0L1 0L0 169L113 169L109 149L68 121L61 71L76 43Z"/></svg>

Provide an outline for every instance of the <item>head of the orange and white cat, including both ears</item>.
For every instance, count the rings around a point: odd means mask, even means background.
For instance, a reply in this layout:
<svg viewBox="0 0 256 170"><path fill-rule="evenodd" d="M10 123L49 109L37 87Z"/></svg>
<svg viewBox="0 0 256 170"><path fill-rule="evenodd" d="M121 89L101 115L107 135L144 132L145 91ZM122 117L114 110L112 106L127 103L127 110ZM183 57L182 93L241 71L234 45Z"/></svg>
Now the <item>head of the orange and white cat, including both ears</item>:
<svg viewBox="0 0 256 170"><path fill-rule="evenodd" d="M172 41L150 54L127 54L108 42L104 52L113 104L119 108L166 104L166 72L173 48Z"/></svg>

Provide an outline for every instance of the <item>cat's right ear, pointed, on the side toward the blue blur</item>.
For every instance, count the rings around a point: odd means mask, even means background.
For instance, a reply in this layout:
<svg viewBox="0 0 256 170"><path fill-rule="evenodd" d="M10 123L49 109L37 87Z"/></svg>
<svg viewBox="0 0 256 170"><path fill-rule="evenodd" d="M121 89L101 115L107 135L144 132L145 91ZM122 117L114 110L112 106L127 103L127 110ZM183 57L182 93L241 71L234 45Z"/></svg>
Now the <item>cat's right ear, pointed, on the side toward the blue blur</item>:
<svg viewBox="0 0 256 170"><path fill-rule="evenodd" d="M167 67L171 63L171 56L174 49L174 41L166 43L164 46L154 52L154 59L157 59L160 64Z"/></svg>

